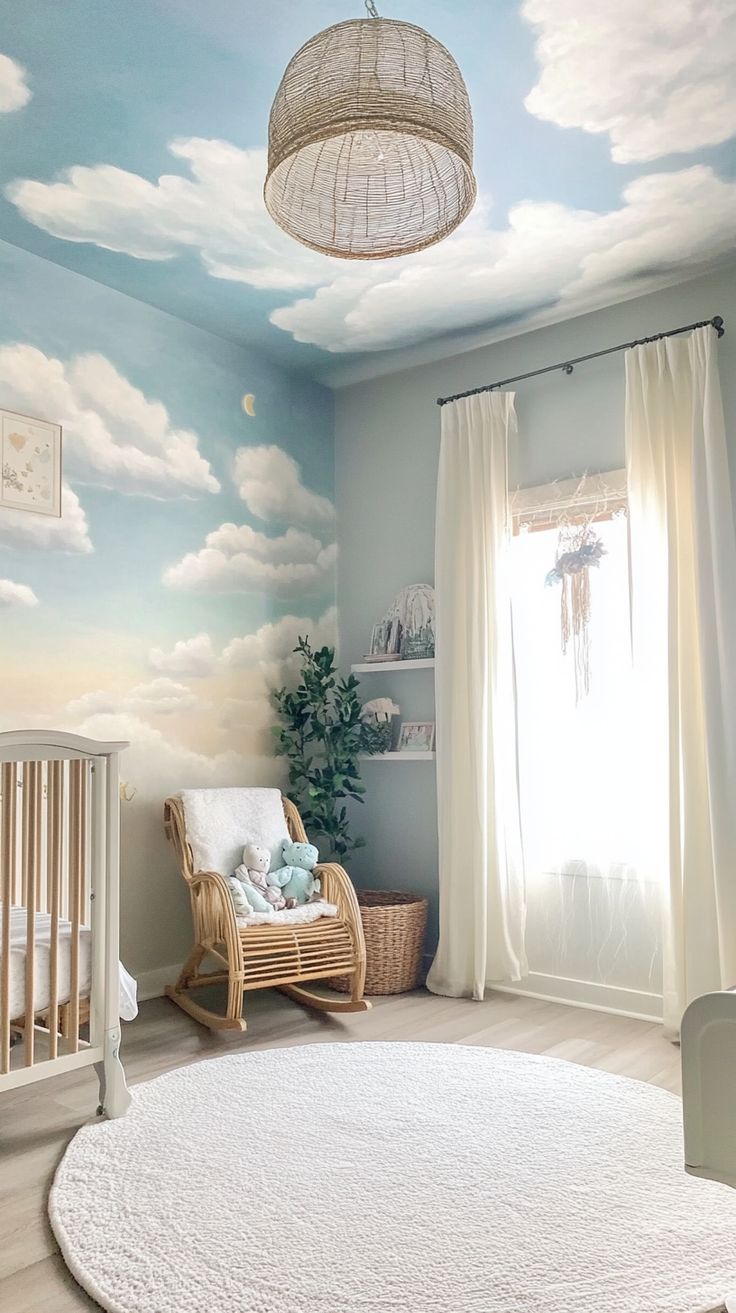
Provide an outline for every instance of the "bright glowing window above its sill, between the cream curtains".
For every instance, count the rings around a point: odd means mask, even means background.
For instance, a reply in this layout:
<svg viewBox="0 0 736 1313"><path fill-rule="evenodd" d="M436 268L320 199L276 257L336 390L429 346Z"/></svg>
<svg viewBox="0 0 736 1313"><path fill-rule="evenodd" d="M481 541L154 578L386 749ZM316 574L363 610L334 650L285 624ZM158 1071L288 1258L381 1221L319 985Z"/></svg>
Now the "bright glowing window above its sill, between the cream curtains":
<svg viewBox="0 0 736 1313"><path fill-rule="evenodd" d="M562 650L562 584L544 583L556 559L559 513L547 504L529 523L517 512L512 544L525 864L530 880L551 872L623 876L635 863L640 809L621 488L594 524L605 555L589 570L590 689L580 699L571 645Z"/></svg>

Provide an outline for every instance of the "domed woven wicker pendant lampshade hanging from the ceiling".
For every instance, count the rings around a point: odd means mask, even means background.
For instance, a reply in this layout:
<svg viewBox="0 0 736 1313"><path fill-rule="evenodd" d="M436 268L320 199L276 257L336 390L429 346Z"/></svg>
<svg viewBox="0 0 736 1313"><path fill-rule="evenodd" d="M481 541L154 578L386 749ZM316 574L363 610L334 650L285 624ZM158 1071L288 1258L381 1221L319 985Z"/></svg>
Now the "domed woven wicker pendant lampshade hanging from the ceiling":
<svg viewBox="0 0 736 1313"><path fill-rule="evenodd" d="M293 238L345 260L441 242L475 201L472 114L451 54L390 18L307 41L272 106L264 198Z"/></svg>

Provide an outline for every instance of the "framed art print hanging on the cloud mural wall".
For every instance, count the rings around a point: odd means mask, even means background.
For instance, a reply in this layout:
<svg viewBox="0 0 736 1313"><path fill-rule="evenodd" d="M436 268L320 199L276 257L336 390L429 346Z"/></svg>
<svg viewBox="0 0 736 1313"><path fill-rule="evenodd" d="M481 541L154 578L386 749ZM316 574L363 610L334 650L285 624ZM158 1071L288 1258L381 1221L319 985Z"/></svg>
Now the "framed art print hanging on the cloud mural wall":
<svg viewBox="0 0 736 1313"><path fill-rule="evenodd" d="M0 508L62 515L62 425L0 410Z"/></svg>

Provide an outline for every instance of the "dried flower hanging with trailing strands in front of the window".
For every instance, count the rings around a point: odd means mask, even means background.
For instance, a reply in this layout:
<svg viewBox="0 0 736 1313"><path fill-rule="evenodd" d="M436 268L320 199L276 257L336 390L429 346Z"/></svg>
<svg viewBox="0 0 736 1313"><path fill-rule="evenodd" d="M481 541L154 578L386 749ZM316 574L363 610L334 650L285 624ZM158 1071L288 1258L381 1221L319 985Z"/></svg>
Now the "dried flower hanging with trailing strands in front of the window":
<svg viewBox="0 0 736 1313"><path fill-rule="evenodd" d="M572 641L575 701L590 692L590 566L600 566L606 549L590 523L563 524L558 555L546 584L562 583L560 635L563 653Z"/></svg>

